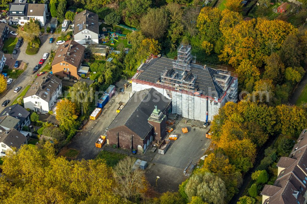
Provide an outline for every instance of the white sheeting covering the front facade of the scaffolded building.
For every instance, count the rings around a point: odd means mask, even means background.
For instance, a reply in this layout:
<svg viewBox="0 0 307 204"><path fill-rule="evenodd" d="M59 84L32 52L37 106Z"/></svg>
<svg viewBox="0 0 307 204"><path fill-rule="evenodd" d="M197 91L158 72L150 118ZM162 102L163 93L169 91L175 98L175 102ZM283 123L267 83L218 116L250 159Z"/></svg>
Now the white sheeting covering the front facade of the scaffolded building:
<svg viewBox="0 0 307 204"><path fill-rule="evenodd" d="M132 91L141 91L150 88L156 89L159 93L171 99L167 95L165 89L145 84L139 84L132 81ZM191 101L194 103L189 104ZM219 108L223 107L223 105L226 103L226 97L224 97L221 102L217 102L209 99L207 100L207 98L201 98L199 96L188 96L187 94L184 93L172 91L172 105L173 105L172 113L181 114L182 117L184 118L200 120L202 122L206 121L207 103L208 103L208 121L212 121L213 116L218 114Z"/></svg>

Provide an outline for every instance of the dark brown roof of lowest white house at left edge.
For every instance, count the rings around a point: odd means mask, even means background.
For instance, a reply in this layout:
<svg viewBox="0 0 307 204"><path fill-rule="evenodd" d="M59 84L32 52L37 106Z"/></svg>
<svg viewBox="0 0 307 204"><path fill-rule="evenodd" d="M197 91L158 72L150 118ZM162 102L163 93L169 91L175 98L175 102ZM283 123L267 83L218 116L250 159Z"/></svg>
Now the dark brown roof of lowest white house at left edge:
<svg viewBox="0 0 307 204"><path fill-rule="evenodd" d="M27 138L16 129L8 131L8 134L6 134L6 131L0 132L0 142L3 142L9 147L16 147L17 149L26 143Z"/></svg>

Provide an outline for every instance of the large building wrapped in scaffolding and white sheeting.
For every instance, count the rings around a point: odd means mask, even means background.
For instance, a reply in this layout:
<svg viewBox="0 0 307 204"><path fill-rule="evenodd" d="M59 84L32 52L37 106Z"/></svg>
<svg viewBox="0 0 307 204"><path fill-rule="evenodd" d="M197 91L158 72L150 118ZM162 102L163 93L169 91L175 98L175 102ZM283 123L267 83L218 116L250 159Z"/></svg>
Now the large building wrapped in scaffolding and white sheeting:
<svg viewBox="0 0 307 204"><path fill-rule="evenodd" d="M181 44L177 59L150 55L132 78L132 91L154 88L172 99L172 113L212 121L228 101L238 101L238 79L227 69L200 65L191 45Z"/></svg>

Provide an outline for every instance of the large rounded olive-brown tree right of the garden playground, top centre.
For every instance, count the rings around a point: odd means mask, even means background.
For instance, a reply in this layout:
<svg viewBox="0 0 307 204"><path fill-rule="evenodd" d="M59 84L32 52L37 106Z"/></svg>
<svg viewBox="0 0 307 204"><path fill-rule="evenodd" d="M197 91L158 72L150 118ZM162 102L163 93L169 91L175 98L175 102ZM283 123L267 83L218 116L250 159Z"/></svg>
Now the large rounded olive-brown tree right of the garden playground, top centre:
<svg viewBox="0 0 307 204"><path fill-rule="evenodd" d="M148 13L141 18L140 24L145 36L155 40L160 39L169 25L166 10L164 8L149 9Z"/></svg>

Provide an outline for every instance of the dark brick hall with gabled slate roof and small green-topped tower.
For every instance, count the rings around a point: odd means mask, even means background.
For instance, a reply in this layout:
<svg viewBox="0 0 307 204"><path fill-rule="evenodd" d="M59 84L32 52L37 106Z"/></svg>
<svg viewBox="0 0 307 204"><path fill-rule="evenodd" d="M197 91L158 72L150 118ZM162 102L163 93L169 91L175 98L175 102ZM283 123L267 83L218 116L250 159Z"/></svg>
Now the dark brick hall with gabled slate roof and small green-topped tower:
<svg viewBox="0 0 307 204"><path fill-rule="evenodd" d="M153 140L166 135L171 100L155 89L134 93L107 128L108 144L145 153Z"/></svg>

